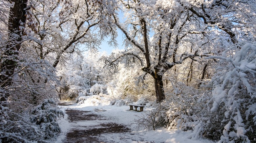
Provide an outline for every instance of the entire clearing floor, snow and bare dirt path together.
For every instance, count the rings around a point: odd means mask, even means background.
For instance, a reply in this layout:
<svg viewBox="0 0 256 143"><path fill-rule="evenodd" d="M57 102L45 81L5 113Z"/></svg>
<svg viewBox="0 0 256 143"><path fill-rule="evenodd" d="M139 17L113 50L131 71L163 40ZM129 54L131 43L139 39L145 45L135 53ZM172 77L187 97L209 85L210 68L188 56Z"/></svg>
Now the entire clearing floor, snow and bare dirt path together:
<svg viewBox="0 0 256 143"><path fill-rule="evenodd" d="M129 110L129 106L77 103L64 103L60 108L65 116L59 120L63 132L57 139L59 143L212 143L190 137L191 131L138 128L134 119L143 116L147 108L136 112Z"/></svg>

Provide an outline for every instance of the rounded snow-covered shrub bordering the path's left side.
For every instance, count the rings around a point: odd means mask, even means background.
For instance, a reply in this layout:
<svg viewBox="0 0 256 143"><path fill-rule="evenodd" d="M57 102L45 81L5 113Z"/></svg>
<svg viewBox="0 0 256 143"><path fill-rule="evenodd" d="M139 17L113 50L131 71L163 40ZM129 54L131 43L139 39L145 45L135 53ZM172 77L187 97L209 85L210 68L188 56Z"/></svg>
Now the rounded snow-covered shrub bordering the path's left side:
<svg viewBox="0 0 256 143"><path fill-rule="evenodd" d="M53 99L45 99L32 110L31 122L44 133L44 139L56 138L61 132L57 120L63 117L64 113L53 105L56 105Z"/></svg>

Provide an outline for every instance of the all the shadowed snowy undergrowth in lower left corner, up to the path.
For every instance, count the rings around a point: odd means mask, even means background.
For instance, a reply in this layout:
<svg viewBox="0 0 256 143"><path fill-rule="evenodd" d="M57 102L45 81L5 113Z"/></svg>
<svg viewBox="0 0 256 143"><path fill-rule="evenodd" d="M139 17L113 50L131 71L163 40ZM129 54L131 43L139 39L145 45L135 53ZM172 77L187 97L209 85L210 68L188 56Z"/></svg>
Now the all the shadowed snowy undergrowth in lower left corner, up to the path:
<svg viewBox="0 0 256 143"><path fill-rule="evenodd" d="M0 142L48 142L57 137L57 120L63 112L55 107L53 99L46 99L31 111L15 113L0 106Z"/></svg>

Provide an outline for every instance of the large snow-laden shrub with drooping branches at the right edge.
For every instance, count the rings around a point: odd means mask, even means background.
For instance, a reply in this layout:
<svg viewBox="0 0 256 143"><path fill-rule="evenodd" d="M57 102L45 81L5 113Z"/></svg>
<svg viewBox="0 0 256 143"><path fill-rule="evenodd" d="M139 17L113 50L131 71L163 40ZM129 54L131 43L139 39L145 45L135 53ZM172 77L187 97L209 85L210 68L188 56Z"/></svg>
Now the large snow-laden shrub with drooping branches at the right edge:
<svg viewBox="0 0 256 143"><path fill-rule="evenodd" d="M207 92L201 127L219 142L250 142L256 138L256 42L240 42L223 52Z"/></svg>

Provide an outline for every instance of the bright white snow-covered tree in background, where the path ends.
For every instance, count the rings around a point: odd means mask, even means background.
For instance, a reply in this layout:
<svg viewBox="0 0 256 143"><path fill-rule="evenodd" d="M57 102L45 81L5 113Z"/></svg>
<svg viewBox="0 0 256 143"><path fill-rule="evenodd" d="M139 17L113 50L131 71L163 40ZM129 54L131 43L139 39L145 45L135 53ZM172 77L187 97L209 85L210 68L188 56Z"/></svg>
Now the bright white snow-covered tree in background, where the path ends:
<svg viewBox="0 0 256 143"><path fill-rule="evenodd" d="M72 56L66 66L59 71L61 84L59 95L74 99L78 96L106 93L103 64L99 54L86 52L85 57Z"/></svg>

